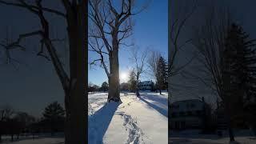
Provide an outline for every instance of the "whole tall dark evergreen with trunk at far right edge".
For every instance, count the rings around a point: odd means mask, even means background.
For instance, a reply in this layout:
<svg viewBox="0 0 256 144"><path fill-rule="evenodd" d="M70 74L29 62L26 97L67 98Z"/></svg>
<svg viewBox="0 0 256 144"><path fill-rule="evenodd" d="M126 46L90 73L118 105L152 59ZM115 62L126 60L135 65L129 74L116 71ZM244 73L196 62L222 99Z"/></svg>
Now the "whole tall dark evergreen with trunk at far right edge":
<svg viewBox="0 0 256 144"><path fill-rule="evenodd" d="M256 94L254 42L255 40L250 40L249 34L242 30L242 26L234 23L230 26L222 58L223 87L225 88L225 101L228 103L227 107L230 112L230 125L234 123L235 118L244 114L248 115L248 111L244 111L244 108L246 103L252 102L251 99ZM246 118L242 116L242 119Z"/></svg>

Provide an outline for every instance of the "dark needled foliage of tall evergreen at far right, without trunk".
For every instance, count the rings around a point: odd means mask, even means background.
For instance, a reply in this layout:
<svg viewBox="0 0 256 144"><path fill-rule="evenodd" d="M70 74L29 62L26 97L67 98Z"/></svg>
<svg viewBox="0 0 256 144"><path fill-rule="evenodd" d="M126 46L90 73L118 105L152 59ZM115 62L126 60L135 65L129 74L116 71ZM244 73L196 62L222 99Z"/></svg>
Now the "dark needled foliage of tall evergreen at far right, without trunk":
<svg viewBox="0 0 256 144"><path fill-rule="evenodd" d="M255 97L256 90L256 54L255 40L249 39L249 34L242 26L232 24L226 38L226 63L230 74L230 90L240 95L239 102L250 101Z"/></svg>

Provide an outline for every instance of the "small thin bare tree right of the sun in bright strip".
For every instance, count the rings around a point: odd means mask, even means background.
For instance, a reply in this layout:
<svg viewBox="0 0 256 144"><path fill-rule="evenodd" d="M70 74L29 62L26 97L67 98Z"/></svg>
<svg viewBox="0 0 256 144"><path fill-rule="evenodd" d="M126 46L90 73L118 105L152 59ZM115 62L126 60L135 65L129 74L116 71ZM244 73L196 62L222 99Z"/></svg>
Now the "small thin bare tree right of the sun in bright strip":
<svg viewBox="0 0 256 144"><path fill-rule="evenodd" d="M139 56L139 54L141 54L141 56ZM146 60L146 56L147 56L147 50L143 51L142 53L139 52L139 48L133 48L131 49L131 62L133 62L135 64L134 66L134 73L135 73L135 77L136 77L136 95L137 97L140 96L139 92L138 92L138 82L140 80L140 78L142 77L142 74L144 74L145 71L145 60Z"/></svg>

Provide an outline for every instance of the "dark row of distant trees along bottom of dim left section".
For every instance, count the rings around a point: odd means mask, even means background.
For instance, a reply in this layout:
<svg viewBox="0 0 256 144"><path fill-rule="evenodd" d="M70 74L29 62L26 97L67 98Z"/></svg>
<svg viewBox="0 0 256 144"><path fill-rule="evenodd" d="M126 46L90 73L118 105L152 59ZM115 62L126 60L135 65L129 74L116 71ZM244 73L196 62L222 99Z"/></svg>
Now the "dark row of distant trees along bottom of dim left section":
<svg viewBox="0 0 256 144"><path fill-rule="evenodd" d="M20 136L64 132L65 110L58 102L46 106L42 118L35 118L26 112L16 112L11 106L0 106L0 142L2 135L9 135L11 141ZM14 138L14 136L16 136Z"/></svg>

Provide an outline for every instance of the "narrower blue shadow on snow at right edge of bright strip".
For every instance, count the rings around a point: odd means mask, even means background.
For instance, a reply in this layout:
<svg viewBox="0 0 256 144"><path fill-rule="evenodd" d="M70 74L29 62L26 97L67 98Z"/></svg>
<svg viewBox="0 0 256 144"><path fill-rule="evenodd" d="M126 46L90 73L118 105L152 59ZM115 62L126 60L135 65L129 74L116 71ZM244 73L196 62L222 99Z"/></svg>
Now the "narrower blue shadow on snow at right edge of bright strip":
<svg viewBox="0 0 256 144"><path fill-rule="evenodd" d="M143 97L143 98L142 98ZM168 118L168 102L166 98L158 97L157 95L149 95L147 94L146 96L144 94L141 94L140 98L143 102L145 102L148 106L152 107L154 110L157 110L160 114ZM146 99L154 101L154 102L148 102ZM162 108L161 106L166 106L165 108Z"/></svg>

